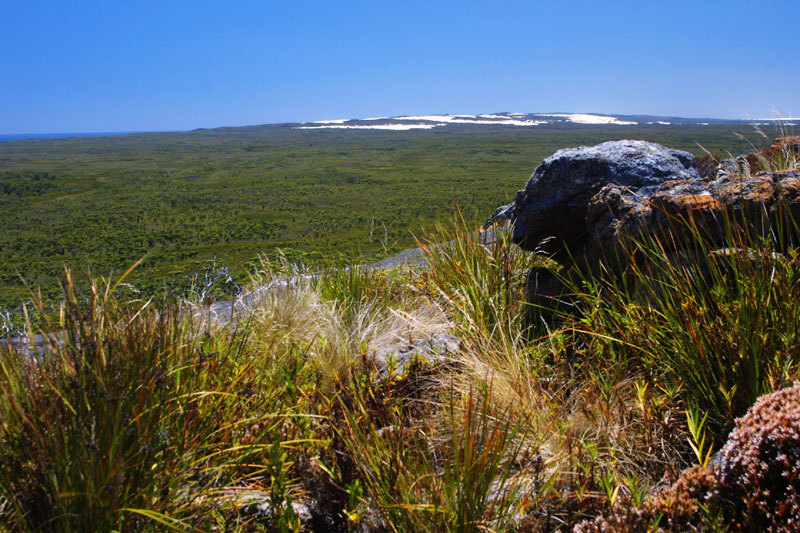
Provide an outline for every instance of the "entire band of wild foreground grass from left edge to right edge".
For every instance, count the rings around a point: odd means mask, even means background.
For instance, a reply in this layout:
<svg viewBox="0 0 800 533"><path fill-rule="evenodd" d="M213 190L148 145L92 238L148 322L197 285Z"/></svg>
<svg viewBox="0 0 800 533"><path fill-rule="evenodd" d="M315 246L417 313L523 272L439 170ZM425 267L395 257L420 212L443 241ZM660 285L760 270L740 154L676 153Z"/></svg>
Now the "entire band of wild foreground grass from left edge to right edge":
<svg viewBox="0 0 800 533"><path fill-rule="evenodd" d="M57 342L0 355L0 527L632 523L798 373L792 221L721 221L724 250L685 224L680 246L628 243L618 275L565 276L570 306L544 322L525 287L540 260L461 218L424 241L425 268L265 261L252 285L272 288L216 329L67 274L60 310L39 310Z"/></svg>

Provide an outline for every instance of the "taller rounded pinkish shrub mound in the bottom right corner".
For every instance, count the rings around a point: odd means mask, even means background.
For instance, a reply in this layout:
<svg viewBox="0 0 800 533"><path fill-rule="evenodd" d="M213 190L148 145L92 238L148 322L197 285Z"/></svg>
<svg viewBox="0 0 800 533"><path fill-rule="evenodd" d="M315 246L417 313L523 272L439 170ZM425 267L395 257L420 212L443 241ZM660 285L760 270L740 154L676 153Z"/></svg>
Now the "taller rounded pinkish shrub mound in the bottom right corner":
<svg viewBox="0 0 800 533"><path fill-rule="evenodd" d="M800 383L736 421L717 478L734 529L800 531Z"/></svg>

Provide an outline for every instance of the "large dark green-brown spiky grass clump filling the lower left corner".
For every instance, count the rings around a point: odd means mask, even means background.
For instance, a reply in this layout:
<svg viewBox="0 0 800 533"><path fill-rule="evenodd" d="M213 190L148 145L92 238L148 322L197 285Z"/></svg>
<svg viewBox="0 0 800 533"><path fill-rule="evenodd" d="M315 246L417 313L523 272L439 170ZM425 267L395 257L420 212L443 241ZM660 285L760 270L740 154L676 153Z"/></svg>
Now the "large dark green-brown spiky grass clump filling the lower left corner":
<svg viewBox="0 0 800 533"><path fill-rule="evenodd" d="M204 339L177 309L120 302L110 284L80 294L69 274L64 294L46 352L0 356L3 521L45 531L213 522L228 491L257 486L272 464L281 389L242 356L243 339Z"/></svg>

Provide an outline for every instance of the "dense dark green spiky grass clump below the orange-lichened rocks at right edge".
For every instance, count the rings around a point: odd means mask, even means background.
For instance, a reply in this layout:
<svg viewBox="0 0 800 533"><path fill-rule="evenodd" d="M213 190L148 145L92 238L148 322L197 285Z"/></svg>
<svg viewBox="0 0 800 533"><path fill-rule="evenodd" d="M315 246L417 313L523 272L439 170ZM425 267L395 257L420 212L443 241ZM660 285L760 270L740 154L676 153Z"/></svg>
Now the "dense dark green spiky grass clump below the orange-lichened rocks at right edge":
<svg viewBox="0 0 800 533"><path fill-rule="evenodd" d="M797 242L794 222L757 226L733 214L719 224L721 249L707 238L713 230L681 221L675 242L631 241L621 276L578 290L581 329L598 355L681 387L717 440L796 375L800 346L800 271L786 246Z"/></svg>

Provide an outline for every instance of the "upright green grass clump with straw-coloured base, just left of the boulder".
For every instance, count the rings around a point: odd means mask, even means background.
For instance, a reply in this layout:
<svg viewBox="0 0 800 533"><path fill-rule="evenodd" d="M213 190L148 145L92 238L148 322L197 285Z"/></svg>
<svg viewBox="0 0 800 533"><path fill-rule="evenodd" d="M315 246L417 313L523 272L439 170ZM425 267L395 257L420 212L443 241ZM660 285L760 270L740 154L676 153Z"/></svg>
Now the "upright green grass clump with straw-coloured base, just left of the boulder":
<svg viewBox="0 0 800 533"><path fill-rule="evenodd" d="M558 333L544 343L530 339L525 283L531 259L512 244L510 233L475 233L461 217L440 227L435 239L439 244L423 246L424 280L463 345L453 361L458 372L448 375L446 385L468 396L491 384L487 409L498 419L514 412L533 440L528 447L537 449L541 436L553 430L549 405L557 396L544 390L540 377L552 376L549 366L560 354Z"/></svg>

